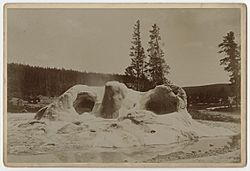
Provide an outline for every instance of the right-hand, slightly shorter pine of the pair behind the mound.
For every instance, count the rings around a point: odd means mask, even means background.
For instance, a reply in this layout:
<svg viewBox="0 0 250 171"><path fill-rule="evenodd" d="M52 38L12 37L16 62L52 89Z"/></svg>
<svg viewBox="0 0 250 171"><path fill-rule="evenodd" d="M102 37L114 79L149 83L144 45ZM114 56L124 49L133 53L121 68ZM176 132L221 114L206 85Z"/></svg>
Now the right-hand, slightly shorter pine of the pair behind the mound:
<svg viewBox="0 0 250 171"><path fill-rule="evenodd" d="M160 28L154 24L150 32L148 53L148 71L154 85L168 84L166 75L169 74L170 67L164 60L164 52L160 48Z"/></svg>

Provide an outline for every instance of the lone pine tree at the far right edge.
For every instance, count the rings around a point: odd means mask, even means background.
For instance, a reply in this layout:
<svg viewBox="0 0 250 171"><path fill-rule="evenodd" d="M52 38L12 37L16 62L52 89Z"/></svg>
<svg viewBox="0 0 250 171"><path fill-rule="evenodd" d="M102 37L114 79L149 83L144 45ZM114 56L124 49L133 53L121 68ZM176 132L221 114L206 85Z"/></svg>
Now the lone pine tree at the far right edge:
<svg viewBox="0 0 250 171"><path fill-rule="evenodd" d="M240 46L235 42L234 32L230 31L223 37L223 42L218 45L225 57L220 59L220 65L224 65L224 70L229 72L230 82L234 88L236 105L240 99Z"/></svg>

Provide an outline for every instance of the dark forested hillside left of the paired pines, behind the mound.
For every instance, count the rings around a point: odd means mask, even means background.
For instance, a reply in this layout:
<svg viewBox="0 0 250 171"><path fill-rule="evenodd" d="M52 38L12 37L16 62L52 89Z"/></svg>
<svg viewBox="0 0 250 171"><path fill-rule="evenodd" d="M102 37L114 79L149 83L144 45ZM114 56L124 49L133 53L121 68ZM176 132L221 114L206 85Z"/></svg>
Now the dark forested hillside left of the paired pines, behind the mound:
<svg viewBox="0 0 250 171"><path fill-rule="evenodd" d="M73 85L103 86L107 81L132 82L120 74L79 72L10 63L7 66L7 95L27 99L38 95L58 96Z"/></svg>

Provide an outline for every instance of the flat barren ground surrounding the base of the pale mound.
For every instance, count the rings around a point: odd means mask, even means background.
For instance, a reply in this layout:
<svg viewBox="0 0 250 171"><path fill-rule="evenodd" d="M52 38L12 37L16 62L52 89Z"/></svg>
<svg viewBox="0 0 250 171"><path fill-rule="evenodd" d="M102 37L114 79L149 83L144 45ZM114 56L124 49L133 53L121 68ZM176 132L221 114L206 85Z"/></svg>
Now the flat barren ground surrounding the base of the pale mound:
<svg viewBox="0 0 250 171"><path fill-rule="evenodd" d="M223 127L236 133L235 136L202 137L198 140L183 141L168 145L141 145L134 147L84 147L75 144L68 135L67 145L53 142L31 146L34 138L22 134L13 126L25 123L34 117L33 113L8 113L8 162L12 163L72 163L72 162L149 162L149 163L232 163L240 162L240 123L198 120L211 126ZM40 129L40 128L39 128ZM40 130L43 132L42 128ZM37 132L39 134L39 131ZM22 135L20 135L22 134ZM18 136L17 136L18 135ZM18 141L23 138L27 141ZM39 136L37 136L39 142ZM72 142L70 144L70 142ZM61 142L62 144L64 142ZM39 150L38 150L39 149Z"/></svg>

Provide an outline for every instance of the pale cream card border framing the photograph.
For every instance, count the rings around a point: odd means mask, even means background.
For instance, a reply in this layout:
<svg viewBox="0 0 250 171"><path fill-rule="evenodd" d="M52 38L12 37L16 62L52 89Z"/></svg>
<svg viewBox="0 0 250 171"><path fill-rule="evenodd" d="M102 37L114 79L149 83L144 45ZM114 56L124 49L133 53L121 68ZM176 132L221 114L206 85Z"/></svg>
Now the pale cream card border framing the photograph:
<svg viewBox="0 0 250 171"><path fill-rule="evenodd" d="M241 162L240 163L9 163L7 161L7 10L239 8L241 10ZM7 167L244 167L247 162L247 7L243 3L6 3L3 19L3 162Z"/></svg>

